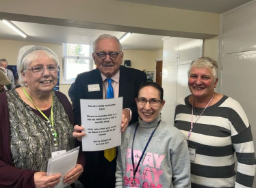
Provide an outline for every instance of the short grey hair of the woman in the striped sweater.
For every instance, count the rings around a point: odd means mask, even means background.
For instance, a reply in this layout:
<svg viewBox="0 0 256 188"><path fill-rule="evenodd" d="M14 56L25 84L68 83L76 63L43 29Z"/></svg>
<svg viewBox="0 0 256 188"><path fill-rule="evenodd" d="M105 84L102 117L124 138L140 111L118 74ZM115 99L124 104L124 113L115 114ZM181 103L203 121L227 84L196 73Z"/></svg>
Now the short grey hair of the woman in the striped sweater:
<svg viewBox="0 0 256 188"><path fill-rule="evenodd" d="M191 69L195 68L207 68L212 71L212 75L214 76L214 82L218 78L218 64L217 61L211 59L209 57L201 57L192 61L190 68L188 69L188 76L190 76Z"/></svg>

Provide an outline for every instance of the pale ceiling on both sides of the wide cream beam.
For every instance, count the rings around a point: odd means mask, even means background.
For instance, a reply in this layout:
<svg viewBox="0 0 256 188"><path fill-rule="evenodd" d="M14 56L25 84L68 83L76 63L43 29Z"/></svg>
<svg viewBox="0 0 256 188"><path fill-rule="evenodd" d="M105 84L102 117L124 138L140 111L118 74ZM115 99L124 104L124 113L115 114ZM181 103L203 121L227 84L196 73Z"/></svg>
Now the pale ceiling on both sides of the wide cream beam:
<svg viewBox="0 0 256 188"><path fill-rule="evenodd" d="M238 7L251 0L116 0L129 3L140 3L160 7L173 7L185 10L195 10L201 12L212 12L221 14L228 10ZM31 22L13 21L14 25L23 30L28 36L26 39L16 34L8 26L0 22L1 40L20 40L29 42L43 43L73 43L73 44L92 44L101 34L108 33L120 38L125 33L118 31L104 31L95 29L84 29L78 27L64 27L55 25L43 25ZM129 50L149 50L155 51L162 49L162 38L166 36L144 35L133 33L122 43L123 49Z"/></svg>

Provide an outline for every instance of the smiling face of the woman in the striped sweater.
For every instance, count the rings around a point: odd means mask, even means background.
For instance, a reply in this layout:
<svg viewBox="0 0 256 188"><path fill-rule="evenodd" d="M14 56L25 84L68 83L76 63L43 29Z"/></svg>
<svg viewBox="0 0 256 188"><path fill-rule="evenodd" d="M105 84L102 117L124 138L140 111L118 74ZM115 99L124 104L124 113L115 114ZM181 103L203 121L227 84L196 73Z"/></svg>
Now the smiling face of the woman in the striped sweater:
<svg viewBox="0 0 256 188"><path fill-rule="evenodd" d="M214 82L212 71L208 68L193 67L188 77L188 87L193 97L208 98L214 95L218 79Z"/></svg>

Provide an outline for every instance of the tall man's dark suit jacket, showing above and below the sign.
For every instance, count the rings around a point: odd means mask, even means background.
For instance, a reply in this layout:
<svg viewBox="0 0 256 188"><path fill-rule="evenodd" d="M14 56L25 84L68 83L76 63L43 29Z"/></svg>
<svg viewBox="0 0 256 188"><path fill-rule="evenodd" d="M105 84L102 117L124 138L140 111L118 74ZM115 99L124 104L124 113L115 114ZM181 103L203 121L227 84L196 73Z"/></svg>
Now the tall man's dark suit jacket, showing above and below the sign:
<svg viewBox="0 0 256 188"><path fill-rule="evenodd" d="M136 101L140 84L146 82L146 74L138 69L120 66L119 97L123 97L123 108L130 108L132 119L138 121ZM100 91L88 91L88 85L99 84ZM103 99L103 82L99 69L84 72L75 80L73 113L75 125L81 125L80 99ZM81 142L80 142L81 144ZM85 152L86 166L79 181L85 187L114 187L116 183L116 158L111 162L104 157L104 151Z"/></svg>

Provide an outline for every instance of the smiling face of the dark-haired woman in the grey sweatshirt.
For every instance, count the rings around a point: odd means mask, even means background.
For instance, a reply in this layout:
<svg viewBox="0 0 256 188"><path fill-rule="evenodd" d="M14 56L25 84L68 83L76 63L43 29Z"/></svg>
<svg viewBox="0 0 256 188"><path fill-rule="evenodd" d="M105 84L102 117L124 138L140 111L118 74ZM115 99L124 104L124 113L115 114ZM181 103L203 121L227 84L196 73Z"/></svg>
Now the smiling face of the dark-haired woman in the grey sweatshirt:
<svg viewBox="0 0 256 188"><path fill-rule="evenodd" d="M139 91L138 98L143 97L147 101L150 99L160 99L160 92L155 89L155 87L143 87ZM159 112L164 107L164 101L160 101L157 106L151 106L149 102L146 102L146 104L141 105L137 100L137 107L138 107L138 114L140 115L140 119L142 119L145 122L151 122L155 119L157 119L157 116L159 115Z"/></svg>

